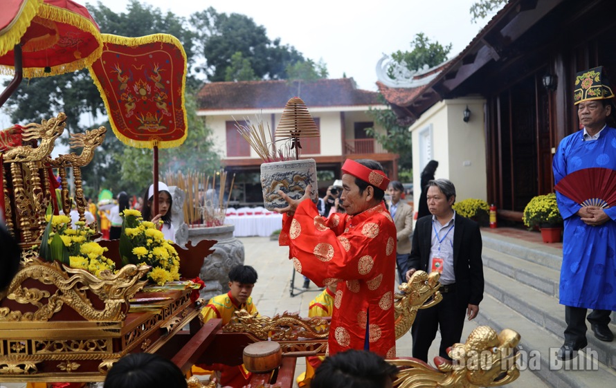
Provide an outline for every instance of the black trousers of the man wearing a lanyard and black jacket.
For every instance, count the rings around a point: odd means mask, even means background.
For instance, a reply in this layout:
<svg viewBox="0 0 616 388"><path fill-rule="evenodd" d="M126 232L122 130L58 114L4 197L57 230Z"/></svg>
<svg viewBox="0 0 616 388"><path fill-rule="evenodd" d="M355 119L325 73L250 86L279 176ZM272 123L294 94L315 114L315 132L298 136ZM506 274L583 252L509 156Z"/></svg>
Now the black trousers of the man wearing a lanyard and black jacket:
<svg viewBox="0 0 616 388"><path fill-rule="evenodd" d="M436 337L437 329L441 331L439 355L451 360L447 348L460 342L466 307L458 301L455 291L444 293L443 300L431 308L417 311L411 333L413 335L413 357L428 362L428 349Z"/></svg>

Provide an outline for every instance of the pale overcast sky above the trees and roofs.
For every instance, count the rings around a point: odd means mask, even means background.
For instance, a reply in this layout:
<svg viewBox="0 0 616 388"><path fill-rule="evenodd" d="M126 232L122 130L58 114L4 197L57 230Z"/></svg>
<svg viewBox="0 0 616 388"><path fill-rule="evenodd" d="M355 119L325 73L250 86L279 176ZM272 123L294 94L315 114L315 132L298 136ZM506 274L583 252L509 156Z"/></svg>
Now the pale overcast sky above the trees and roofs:
<svg viewBox="0 0 616 388"><path fill-rule="evenodd" d="M86 4L96 1L75 0ZM487 22L471 24L477 0L141 0L163 12L188 17L213 7L239 13L264 26L269 39L294 46L304 57L323 59L329 78L353 77L359 89L377 91L377 62L383 53L410 50L410 41L424 33L431 41L453 44L450 57L460 53ZM105 0L115 12L128 1ZM105 31L101 31L105 33Z"/></svg>

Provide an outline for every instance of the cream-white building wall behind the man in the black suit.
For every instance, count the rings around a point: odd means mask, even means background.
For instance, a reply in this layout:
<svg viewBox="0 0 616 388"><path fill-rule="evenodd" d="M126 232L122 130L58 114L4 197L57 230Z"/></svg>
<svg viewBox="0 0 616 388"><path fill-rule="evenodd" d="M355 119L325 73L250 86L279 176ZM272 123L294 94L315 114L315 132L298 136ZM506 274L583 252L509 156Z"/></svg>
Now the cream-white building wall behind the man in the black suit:
<svg viewBox="0 0 616 388"><path fill-rule="evenodd" d="M421 174L419 133L432 127L433 160L439 167L435 178L446 178L455 185L457 201L466 198L487 199L487 173L482 99L460 98L437 102L409 128L413 137L413 194L419 201ZM469 107L469 122L462 120ZM417 205L415 205L417 209Z"/></svg>

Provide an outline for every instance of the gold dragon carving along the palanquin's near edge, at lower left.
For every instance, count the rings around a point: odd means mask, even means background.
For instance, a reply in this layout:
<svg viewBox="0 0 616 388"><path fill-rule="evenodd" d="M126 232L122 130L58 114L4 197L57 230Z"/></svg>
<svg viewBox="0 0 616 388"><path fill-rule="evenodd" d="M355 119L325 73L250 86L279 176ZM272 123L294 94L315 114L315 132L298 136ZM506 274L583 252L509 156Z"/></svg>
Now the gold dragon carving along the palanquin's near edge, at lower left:
<svg viewBox="0 0 616 388"><path fill-rule="evenodd" d="M37 311L21 313L0 307L0 322L48 321L66 304L89 321L124 320L126 313L122 306L143 288L147 281L139 281L150 270L149 266L123 266L116 274L111 271L100 272L100 278L86 270L64 266L54 261L52 264L34 259L21 268L6 290L0 293L19 304L31 304ZM50 293L37 288L26 288L22 283L26 279L35 279L42 284L53 284L57 290ZM93 307L86 290L105 302L105 308ZM42 301L46 300L46 304Z"/></svg>

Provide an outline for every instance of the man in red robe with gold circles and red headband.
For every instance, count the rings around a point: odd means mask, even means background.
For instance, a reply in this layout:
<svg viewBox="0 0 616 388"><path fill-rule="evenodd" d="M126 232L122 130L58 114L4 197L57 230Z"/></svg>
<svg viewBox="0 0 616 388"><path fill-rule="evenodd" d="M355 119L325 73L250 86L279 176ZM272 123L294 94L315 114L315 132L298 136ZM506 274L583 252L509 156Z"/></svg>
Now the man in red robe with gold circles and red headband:
<svg viewBox="0 0 616 388"><path fill-rule="evenodd" d="M389 179L374 160L347 159L342 167L345 214L318 214L305 194L286 213L281 246L302 275L318 286L337 284L329 326L329 355L366 349L395 358L393 290L396 226L383 202ZM307 188L306 193L310 192Z"/></svg>

